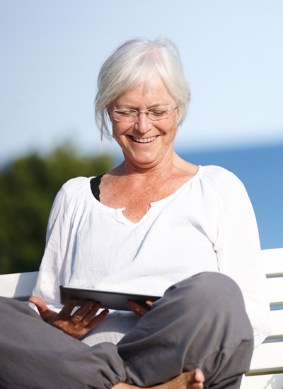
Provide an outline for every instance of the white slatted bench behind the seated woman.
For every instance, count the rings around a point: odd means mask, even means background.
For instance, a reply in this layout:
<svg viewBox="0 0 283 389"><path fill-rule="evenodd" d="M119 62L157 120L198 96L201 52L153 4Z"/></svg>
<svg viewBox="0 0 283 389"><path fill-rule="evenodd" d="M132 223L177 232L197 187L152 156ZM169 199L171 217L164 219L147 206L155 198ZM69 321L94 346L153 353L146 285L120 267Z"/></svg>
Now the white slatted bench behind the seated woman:
<svg viewBox="0 0 283 389"><path fill-rule="evenodd" d="M253 353L248 383L250 389L283 389L283 249L262 250L262 256L270 289L272 334ZM36 278L37 272L0 275L0 296L27 301Z"/></svg>

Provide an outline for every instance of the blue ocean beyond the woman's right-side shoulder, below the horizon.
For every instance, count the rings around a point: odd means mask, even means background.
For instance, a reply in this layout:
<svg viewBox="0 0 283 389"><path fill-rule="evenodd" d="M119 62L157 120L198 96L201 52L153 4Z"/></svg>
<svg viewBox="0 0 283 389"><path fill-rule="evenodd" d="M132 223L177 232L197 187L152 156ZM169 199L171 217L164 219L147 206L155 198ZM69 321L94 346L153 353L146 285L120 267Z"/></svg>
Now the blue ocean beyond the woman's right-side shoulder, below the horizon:
<svg viewBox="0 0 283 389"><path fill-rule="evenodd" d="M283 144L235 150L186 152L184 160L230 170L246 186L255 210L262 249L283 247Z"/></svg>

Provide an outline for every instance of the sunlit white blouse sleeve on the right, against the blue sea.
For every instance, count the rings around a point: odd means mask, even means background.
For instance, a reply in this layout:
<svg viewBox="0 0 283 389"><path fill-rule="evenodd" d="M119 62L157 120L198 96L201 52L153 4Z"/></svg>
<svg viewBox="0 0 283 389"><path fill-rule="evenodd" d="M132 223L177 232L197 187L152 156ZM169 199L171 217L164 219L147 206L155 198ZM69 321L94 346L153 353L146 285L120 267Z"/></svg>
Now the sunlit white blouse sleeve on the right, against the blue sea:
<svg viewBox="0 0 283 389"><path fill-rule="evenodd" d="M214 250L219 271L241 288L257 347L270 333L270 306L258 226L246 188L236 176L227 172L218 188L219 222Z"/></svg>

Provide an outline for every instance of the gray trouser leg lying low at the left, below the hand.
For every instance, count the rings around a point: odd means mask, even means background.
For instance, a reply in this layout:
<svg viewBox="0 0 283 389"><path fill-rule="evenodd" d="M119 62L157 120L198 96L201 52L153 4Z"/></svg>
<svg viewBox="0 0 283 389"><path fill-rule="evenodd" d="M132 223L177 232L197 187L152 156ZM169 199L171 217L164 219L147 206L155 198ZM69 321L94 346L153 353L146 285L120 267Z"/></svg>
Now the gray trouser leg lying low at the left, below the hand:
<svg viewBox="0 0 283 389"><path fill-rule="evenodd" d="M0 388L112 388L125 381L117 347L88 347L42 321L26 304L0 298Z"/></svg>

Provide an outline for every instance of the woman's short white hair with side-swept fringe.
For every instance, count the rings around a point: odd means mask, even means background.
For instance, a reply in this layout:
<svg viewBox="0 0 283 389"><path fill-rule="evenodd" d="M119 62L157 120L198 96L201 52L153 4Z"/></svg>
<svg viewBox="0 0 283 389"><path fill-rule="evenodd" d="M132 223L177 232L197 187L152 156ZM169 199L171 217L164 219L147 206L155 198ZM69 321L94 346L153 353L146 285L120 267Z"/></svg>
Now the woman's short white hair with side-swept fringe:
<svg viewBox="0 0 283 389"><path fill-rule="evenodd" d="M179 103L179 126L183 123L190 102L190 87L185 80L175 43L166 38L158 38L152 42L146 39L128 40L106 59L98 75L95 109L101 140L103 135L112 138L107 126L110 123L108 106L117 97L137 88L141 83L149 88L156 77L161 78L168 92Z"/></svg>

